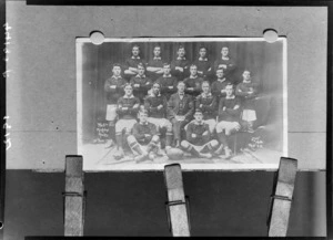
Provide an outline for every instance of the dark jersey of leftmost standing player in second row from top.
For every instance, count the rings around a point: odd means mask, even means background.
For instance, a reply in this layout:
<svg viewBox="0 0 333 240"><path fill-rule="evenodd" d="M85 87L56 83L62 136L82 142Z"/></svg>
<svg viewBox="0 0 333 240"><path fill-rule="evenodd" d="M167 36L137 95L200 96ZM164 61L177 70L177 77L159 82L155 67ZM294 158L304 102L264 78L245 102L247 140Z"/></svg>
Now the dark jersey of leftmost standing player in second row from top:
<svg viewBox="0 0 333 240"><path fill-rule="evenodd" d="M125 83L127 81L122 77L111 76L105 80L104 91L107 92L108 104L117 104L119 97L123 96ZM115 88L111 86L115 86Z"/></svg>

